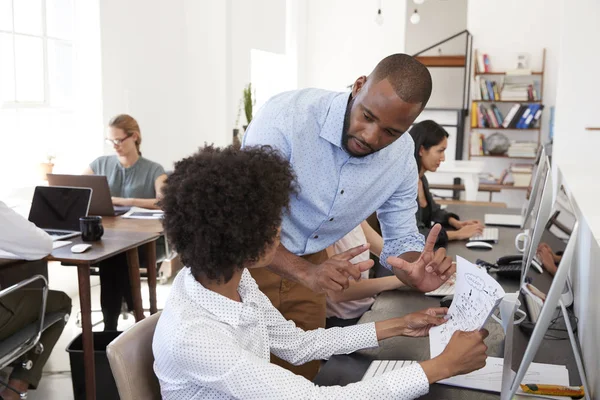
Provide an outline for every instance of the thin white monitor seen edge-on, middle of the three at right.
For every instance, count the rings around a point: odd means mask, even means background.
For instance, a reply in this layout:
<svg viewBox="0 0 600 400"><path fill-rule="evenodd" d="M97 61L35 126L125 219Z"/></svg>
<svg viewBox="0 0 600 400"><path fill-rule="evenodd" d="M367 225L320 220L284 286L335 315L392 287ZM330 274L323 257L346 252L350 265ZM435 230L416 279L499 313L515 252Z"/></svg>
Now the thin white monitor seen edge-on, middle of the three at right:
<svg viewBox="0 0 600 400"><path fill-rule="evenodd" d="M536 192L536 196L530 199L532 206L532 217L529 229L526 233L525 249L523 251L523 268L521 270L521 287L525 283L525 277L531 267L531 261L535 256L540 239L544 231L544 227L550 218L552 210L552 174L550 171L550 160L548 157L540 161L540 188ZM526 228L527 229L527 228Z"/></svg>

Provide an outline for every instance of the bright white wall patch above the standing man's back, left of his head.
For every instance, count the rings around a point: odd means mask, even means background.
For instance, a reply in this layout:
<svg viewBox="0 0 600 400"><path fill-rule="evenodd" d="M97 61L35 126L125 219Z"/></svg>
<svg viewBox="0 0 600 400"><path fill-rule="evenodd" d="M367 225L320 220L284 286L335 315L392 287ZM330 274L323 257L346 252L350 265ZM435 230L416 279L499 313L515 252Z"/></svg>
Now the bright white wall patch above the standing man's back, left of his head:
<svg viewBox="0 0 600 400"><path fill-rule="evenodd" d="M307 0L301 87L346 90L382 58L404 51L405 0L384 1L384 23L375 23L376 0Z"/></svg>

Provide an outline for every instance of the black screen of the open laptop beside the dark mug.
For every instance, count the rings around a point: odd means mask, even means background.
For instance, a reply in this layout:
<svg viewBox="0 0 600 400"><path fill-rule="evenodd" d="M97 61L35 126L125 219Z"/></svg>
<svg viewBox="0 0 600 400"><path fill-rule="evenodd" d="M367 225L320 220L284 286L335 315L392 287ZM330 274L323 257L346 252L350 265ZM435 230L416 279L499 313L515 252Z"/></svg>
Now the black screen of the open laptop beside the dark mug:
<svg viewBox="0 0 600 400"><path fill-rule="evenodd" d="M38 186L29 220L42 229L79 231L79 218L87 215L91 193L89 188Z"/></svg>

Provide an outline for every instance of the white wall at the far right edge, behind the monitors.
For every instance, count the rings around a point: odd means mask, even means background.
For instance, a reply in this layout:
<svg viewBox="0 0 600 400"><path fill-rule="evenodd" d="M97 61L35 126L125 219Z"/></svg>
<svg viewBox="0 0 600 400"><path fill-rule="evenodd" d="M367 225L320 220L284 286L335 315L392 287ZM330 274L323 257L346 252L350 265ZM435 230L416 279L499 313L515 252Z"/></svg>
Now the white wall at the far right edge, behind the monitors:
<svg viewBox="0 0 600 400"><path fill-rule="evenodd" d="M564 174L574 192L580 218L579 243L574 263L575 313L591 398L600 397L600 212L598 171L600 134L586 127L600 127L596 72L600 63L600 3L565 2L562 7L561 52L556 93L554 169ZM555 174L556 176L556 174Z"/></svg>

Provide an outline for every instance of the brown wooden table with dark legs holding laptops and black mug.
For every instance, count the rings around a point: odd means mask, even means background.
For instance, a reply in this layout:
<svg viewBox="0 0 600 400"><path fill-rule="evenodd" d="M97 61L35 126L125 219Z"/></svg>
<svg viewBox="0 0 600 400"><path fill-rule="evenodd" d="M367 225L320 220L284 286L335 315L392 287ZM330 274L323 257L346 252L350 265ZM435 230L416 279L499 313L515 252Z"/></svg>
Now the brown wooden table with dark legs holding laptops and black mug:
<svg viewBox="0 0 600 400"><path fill-rule="evenodd" d="M83 357L85 367L86 398L96 398L96 378L94 366L94 337L92 334L92 304L90 295L90 267L114 255L126 252L129 266L129 277L136 321L144 318L142 295L140 292L140 263L137 248L146 245L148 251L148 284L150 286L150 312L156 313L156 244L160 236L156 232L138 232L105 229L102 240L91 242L92 248L85 253L71 252L71 246L83 243L81 237L72 239L68 246L54 249L48 260L60 261L77 266L79 283L79 301L81 305L81 321L83 335ZM153 281L153 284L150 282ZM154 290L152 289L154 288ZM154 293L153 293L154 292Z"/></svg>

